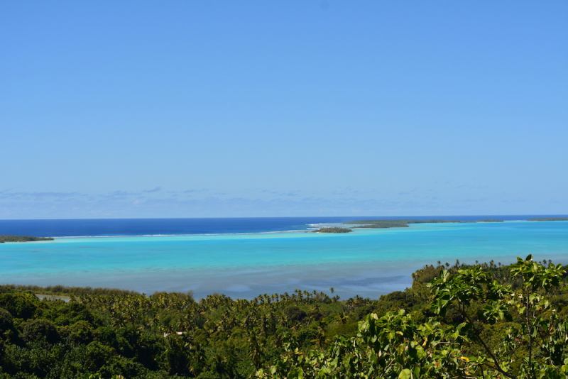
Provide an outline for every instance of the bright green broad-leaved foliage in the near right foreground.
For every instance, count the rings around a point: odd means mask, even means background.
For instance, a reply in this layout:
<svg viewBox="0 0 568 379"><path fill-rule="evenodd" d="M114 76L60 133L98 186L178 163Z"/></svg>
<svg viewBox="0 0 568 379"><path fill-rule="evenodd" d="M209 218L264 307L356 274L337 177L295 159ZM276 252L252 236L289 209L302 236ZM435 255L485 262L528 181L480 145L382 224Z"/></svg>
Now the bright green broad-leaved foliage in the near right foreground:
<svg viewBox="0 0 568 379"><path fill-rule="evenodd" d="M552 290L565 290L565 270L531 256L508 270L509 280L521 282L516 289L496 280L493 273L500 270L493 264L439 270L430 284L432 317L426 322L403 309L370 314L357 336L337 338L325 349L285 344L285 352L256 377L568 378L568 322L547 300ZM409 295L393 292L381 300L408 307L416 299ZM449 320L450 313L459 321Z"/></svg>

